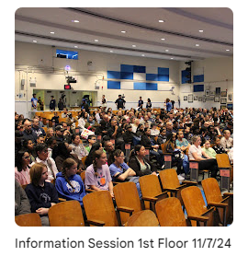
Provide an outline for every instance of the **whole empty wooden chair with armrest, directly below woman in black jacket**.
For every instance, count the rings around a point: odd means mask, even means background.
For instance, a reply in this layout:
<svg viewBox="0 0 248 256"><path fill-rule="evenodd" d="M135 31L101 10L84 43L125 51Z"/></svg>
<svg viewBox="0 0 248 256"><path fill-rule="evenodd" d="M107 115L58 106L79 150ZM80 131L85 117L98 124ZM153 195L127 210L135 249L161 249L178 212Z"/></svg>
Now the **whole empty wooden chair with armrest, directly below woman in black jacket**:
<svg viewBox="0 0 248 256"><path fill-rule="evenodd" d="M167 192L162 192L159 179L156 175L142 176L142 177L140 177L139 182L140 182L140 186L141 186L142 196L153 198L153 201L150 202L150 204L149 204L149 202L145 202L145 204L144 204L145 209L150 209L155 213L154 204L157 201L168 197ZM154 203L154 204L152 204L152 203Z"/></svg>

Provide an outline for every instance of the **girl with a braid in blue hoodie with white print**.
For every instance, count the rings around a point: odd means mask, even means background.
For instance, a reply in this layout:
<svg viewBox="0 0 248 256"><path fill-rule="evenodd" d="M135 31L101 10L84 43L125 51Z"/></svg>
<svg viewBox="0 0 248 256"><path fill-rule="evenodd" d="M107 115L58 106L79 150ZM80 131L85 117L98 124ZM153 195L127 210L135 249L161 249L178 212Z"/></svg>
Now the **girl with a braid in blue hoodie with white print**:
<svg viewBox="0 0 248 256"><path fill-rule="evenodd" d="M76 172L77 163L72 158L65 159L62 163L62 172L57 174L55 187L59 197L76 200L83 207L83 197L86 194L85 184Z"/></svg>

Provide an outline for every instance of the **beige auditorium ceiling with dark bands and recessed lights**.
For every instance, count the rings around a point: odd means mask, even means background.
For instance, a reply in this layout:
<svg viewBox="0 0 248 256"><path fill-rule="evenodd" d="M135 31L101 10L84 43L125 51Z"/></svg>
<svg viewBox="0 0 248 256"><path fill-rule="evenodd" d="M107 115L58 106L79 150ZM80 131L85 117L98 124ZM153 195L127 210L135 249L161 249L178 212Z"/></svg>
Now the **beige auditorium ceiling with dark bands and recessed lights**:
<svg viewBox="0 0 248 256"><path fill-rule="evenodd" d="M15 26L16 41L86 51L175 61L233 54L233 15L222 7L19 8Z"/></svg>

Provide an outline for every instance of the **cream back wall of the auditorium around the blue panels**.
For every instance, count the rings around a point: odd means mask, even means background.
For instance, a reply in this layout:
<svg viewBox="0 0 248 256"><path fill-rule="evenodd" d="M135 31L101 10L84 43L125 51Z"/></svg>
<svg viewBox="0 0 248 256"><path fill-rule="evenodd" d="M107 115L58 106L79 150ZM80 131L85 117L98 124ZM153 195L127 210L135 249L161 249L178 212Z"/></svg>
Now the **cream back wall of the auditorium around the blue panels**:
<svg viewBox="0 0 248 256"><path fill-rule="evenodd" d="M63 49L72 50L75 49ZM93 90L97 92L95 105L99 105L102 95L105 94L107 98L108 107L112 107L114 110L116 106L114 101L118 98L118 94L125 94L127 101L126 107L136 108L139 97L141 96L144 102L148 98L152 99L153 107L163 107L163 101L166 98L175 100L175 106L177 107L177 97L181 98L181 107L207 107L210 108L214 105L220 108L220 103L213 103L213 101L187 103L184 102L183 96L189 93L182 93L181 88L181 70L185 69L184 62L166 61L158 59L150 59L145 57L131 57L125 55L118 55L113 53L103 52L89 52L79 50L79 60L67 60L59 59L55 57L56 48L52 48L47 45L39 45L34 43L25 43L16 41L16 72L15 72L15 94L16 94L16 111L24 113L29 111L30 101L32 98L33 88L29 87L28 81L30 78L36 79L36 89L59 89L63 90L65 81L65 74L62 71L65 65L71 66L70 76L73 76L77 83L72 84L75 90ZM88 70L87 62L91 61L93 66L91 70ZM170 91L144 91L144 90L118 90L107 89L107 64L133 64L133 65L145 65L145 66L160 66L168 67L170 69L170 81L164 82L164 85L174 86L174 95ZM27 73L27 66L33 67L29 69ZM40 67L53 67L54 72L49 74L48 71L39 72L35 69L36 66ZM221 87L222 89L228 89L228 93L232 92L232 58L220 58L220 59L207 59L200 62L194 62L194 67L204 67L205 75L205 87ZM102 80L104 76L104 79ZM20 90L20 81L25 79L24 90ZM228 82L226 82L228 79ZM95 88L96 81L99 82L99 89ZM193 91L193 89L191 90ZM23 95L23 98L17 97L19 94ZM198 93L196 95L201 95ZM24 96L25 95L25 96ZM28 108L27 108L28 106Z"/></svg>

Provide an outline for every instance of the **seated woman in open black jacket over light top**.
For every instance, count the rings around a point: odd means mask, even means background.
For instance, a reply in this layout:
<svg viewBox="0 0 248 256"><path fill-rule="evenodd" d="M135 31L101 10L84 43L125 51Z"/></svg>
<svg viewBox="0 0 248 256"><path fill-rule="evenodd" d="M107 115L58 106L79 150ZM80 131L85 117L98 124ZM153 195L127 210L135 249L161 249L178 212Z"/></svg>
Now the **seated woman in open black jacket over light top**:
<svg viewBox="0 0 248 256"><path fill-rule="evenodd" d="M150 174L156 175L157 171L155 166L145 157L145 147L143 145L135 145L131 151L129 167L139 177Z"/></svg>

